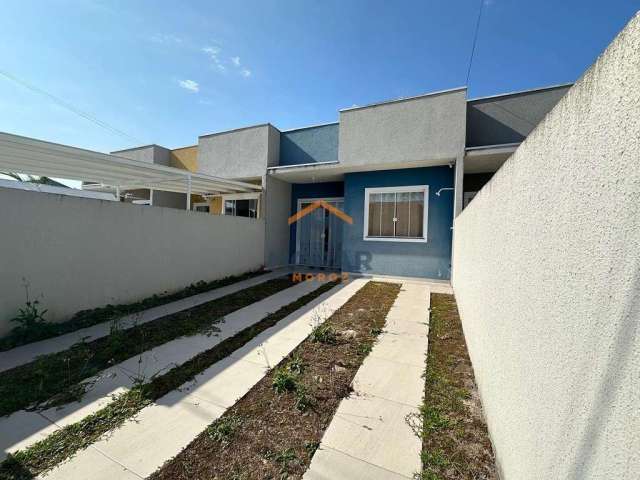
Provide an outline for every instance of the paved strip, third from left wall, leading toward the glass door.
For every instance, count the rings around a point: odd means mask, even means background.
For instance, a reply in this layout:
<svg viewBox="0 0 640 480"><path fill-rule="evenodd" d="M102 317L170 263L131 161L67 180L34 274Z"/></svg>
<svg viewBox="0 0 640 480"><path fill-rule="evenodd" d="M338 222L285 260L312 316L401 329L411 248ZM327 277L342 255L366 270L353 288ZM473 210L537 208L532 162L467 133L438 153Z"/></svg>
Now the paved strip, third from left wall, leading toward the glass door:
<svg viewBox="0 0 640 480"><path fill-rule="evenodd" d="M313 282L315 283L315 282ZM313 327L344 305L367 280L338 285L265 330L230 358L216 363L135 419L59 465L47 480L113 480L145 478L177 455L238 398L245 395L268 368L281 361Z"/></svg>

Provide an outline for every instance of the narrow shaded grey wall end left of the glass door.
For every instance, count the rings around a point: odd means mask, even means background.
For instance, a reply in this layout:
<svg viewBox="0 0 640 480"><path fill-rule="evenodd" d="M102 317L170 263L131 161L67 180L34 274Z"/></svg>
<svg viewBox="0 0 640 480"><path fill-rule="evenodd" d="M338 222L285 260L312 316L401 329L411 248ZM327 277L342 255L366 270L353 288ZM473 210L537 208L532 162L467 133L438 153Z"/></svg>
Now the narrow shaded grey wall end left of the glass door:
<svg viewBox="0 0 640 480"><path fill-rule="evenodd" d="M266 175L265 186L265 265L269 268L289 264L289 224L291 184Z"/></svg>

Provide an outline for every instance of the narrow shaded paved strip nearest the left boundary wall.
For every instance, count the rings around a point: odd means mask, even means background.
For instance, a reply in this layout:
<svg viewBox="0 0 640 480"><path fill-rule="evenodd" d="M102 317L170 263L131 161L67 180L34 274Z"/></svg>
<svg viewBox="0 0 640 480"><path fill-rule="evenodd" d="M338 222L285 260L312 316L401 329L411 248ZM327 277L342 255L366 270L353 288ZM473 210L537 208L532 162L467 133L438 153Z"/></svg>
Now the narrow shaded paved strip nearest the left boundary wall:
<svg viewBox="0 0 640 480"><path fill-rule="evenodd" d="M273 272L265 273L257 277L242 280L240 282L232 283L224 287L216 288L208 292L199 293L191 297L176 300L175 302L159 305L157 307L143 310L142 312L133 313L120 319L121 328L129 328L134 325L140 325L142 323L151 322L167 315L172 315L182 310L187 310L203 303L216 300L218 298L230 295L232 293L239 292L245 288L253 287L260 283L264 283L268 280L281 277L287 272L284 270L275 270ZM50 353L57 353L63 350L71 348L74 344L78 343L83 338L85 341L90 342L101 337L109 335L111 328L111 322L103 322L91 327L82 328L75 332L70 332L58 337L48 338L40 342L29 343L21 347L17 347L6 352L0 352L0 372L9 370L19 365L32 362L40 355L47 355Z"/></svg>

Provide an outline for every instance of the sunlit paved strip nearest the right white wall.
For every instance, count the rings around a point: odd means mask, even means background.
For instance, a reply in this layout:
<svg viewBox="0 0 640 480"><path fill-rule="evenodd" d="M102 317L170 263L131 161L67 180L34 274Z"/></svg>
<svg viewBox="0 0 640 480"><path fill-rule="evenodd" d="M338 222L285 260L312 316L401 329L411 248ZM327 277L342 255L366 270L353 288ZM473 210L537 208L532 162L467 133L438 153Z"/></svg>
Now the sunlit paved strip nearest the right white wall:
<svg viewBox="0 0 640 480"><path fill-rule="evenodd" d="M305 480L412 479L421 440L405 418L423 400L430 288L403 283L385 330L340 402Z"/></svg>

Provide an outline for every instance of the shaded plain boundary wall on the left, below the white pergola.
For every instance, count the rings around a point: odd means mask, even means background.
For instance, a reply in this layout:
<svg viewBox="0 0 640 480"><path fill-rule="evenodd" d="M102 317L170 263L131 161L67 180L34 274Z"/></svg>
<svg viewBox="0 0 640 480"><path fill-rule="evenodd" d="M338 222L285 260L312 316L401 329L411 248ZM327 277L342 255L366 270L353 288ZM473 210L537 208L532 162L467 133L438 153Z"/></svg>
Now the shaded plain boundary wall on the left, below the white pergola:
<svg viewBox="0 0 640 480"><path fill-rule="evenodd" d="M0 189L0 204L0 335L15 326L25 280L62 321L264 262L262 220L15 189Z"/></svg>

